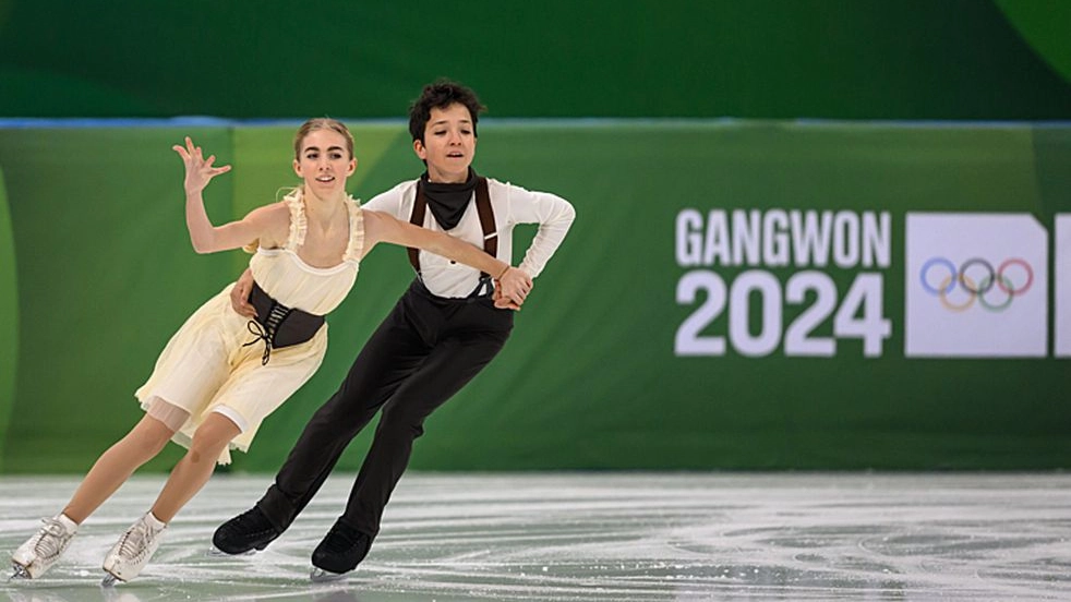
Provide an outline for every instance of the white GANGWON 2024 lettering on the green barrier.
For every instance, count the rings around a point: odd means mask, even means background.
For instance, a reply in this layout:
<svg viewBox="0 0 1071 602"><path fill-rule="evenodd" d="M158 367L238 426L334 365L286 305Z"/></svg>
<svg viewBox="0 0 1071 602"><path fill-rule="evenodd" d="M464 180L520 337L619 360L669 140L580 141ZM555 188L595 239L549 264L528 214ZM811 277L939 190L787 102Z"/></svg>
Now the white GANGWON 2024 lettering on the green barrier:
<svg viewBox="0 0 1071 602"><path fill-rule="evenodd" d="M858 339L865 357L881 357L892 333L882 292L891 224L888 212L682 210L676 261L693 269L676 300L695 309L677 328L674 354L832 358L842 340ZM839 286L834 274L851 284ZM709 334L721 325L724 336Z"/></svg>

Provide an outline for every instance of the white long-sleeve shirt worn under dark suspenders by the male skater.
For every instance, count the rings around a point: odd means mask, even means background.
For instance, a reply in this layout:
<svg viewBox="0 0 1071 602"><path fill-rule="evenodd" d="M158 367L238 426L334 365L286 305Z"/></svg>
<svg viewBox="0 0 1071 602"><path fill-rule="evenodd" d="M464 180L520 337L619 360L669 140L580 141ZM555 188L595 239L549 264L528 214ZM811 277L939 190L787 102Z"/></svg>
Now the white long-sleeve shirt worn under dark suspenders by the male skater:
<svg viewBox="0 0 1071 602"><path fill-rule="evenodd" d="M417 197L417 182L401 182L377 194L363 205L366 209L383 212L404 221L412 215ZM568 201L547 192L532 192L509 183L488 178L488 193L494 209L495 229L498 233L497 258L513 263L513 232L518 224L538 224L539 228L519 267L532 278L539 276L565 234L569 231L576 210ZM457 226L446 231L466 242L483 249L483 228L476 209L476 194L469 201ZM424 214L424 228L444 231L429 209ZM424 286L432 294L448 298L468 297L480 282L480 270L453 262L442 255L420 251L420 272Z"/></svg>

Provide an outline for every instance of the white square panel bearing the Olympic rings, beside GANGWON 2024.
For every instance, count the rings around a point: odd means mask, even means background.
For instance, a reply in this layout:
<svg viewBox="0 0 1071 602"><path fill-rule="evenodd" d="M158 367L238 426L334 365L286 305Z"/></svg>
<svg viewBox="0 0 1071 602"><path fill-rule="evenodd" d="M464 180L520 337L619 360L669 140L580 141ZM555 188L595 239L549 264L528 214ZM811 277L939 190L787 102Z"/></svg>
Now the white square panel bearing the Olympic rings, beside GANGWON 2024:
<svg viewBox="0 0 1071 602"><path fill-rule="evenodd" d="M905 356L1046 356L1048 233L1032 215L908 213L905 237Z"/></svg>

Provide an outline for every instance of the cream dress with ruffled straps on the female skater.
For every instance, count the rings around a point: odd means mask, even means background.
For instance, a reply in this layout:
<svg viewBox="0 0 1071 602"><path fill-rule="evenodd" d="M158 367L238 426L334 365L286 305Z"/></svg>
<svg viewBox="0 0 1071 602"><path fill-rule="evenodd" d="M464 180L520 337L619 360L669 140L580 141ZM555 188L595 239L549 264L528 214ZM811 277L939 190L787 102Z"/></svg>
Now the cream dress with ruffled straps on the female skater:
<svg viewBox="0 0 1071 602"><path fill-rule="evenodd" d="M320 268L298 256L306 230L301 189L284 202L290 208L287 242L279 249L256 250L249 263L253 279L279 304L325 315L357 281L364 246L360 205L352 197L346 202L350 234L341 262ZM323 324L308 341L268 349L265 354L266 342L257 338L257 324L231 308L233 286L186 320L160 353L148 381L134 394L146 411L160 399L189 412L172 437L184 447L209 412L218 411L241 429L229 447L246 452L264 418L316 372L327 351L327 324ZM230 463L230 450L224 449L217 461Z"/></svg>

